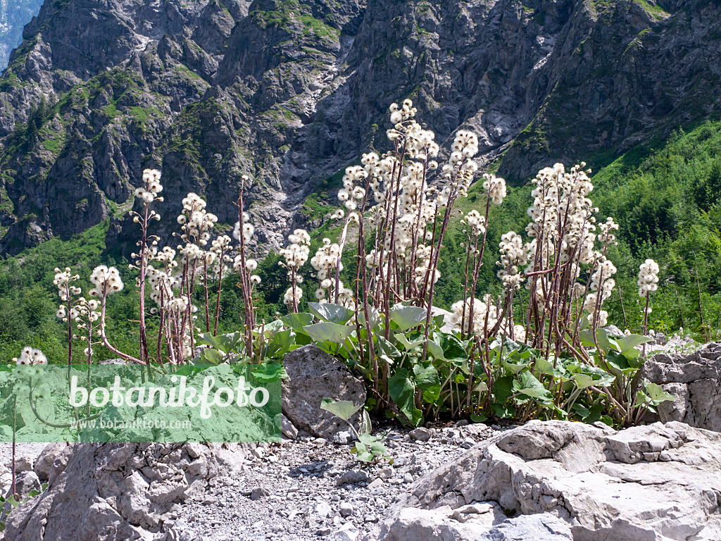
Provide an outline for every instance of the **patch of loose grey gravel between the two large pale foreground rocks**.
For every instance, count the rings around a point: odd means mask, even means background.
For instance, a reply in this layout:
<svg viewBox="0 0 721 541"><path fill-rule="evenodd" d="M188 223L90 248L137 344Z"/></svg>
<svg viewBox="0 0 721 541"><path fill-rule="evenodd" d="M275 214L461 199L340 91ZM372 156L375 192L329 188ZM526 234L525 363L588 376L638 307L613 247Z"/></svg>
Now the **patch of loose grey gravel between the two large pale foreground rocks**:
<svg viewBox="0 0 721 541"><path fill-rule="evenodd" d="M494 433L482 424L393 428L393 465L364 465L350 446L310 437L260 444L245 475L218 478L203 501L177 506L173 529L181 541L317 541L352 525L344 539L363 538L410 483Z"/></svg>

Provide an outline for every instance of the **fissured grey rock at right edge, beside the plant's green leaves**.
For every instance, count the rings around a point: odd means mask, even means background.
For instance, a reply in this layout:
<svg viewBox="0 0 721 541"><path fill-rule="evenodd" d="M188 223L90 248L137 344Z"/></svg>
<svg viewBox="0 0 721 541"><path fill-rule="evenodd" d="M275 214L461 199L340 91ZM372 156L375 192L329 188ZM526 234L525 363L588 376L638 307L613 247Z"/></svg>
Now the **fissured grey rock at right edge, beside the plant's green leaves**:
<svg viewBox="0 0 721 541"><path fill-rule="evenodd" d="M690 354L656 353L645 362L642 377L674 397L658 406L661 422L721 431L721 343Z"/></svg>

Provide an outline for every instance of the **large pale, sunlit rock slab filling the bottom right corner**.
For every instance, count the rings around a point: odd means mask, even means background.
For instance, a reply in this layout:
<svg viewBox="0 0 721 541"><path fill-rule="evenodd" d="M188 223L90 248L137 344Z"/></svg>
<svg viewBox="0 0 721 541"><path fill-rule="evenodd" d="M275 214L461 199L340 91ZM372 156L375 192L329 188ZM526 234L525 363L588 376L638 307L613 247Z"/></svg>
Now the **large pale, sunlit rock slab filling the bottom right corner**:
<svg viewBox="0 0 721 541"><path fill-rule="evenodd" d="M719 457L721 434L684 423L531 421L418 480L377 539L570 539L550 514L575 541L717 540L721 514L708 495L721 492ZM490 509L470 511L476 502ZM505 511L536 518L508 521Z"/></svg>

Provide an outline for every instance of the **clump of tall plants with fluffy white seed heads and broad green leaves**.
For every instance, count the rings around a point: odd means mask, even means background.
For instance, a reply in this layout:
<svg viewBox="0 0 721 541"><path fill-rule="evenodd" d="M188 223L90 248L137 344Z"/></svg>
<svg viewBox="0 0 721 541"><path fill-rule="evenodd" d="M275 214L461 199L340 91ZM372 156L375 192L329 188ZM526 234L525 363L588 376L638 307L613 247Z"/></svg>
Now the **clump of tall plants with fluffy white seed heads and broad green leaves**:
<svg viewBox="0 0 721 541"><path fill-rule="evenodd" d="M441 159L435 134L415 120L410 100L393 104L389 115L389 151L363 154L342 177L340 208L332 213L337 238L323 239L311 255L308 232L289 235L280 252L288 314L270 322L255 309L261 276L249 250L252 180L242 177L232 237L216 233L217 216L200 195L189 193L177 216L177 244L162 246L152 231L160 219L161 173L146 170L131 211L140 227L130 265L140 296L140 353L121 351L108 335L107 303L123 289L118 269L95 268L88 293L94 299L86 300L79 276L67 268L57 271L56 285L58 317L68 323L68 361L80 339L87 343L89 366L93 347L104 346L131 363L245 362L257 365L257 377L278 377L283 355L316 343L364 377L368 408L414 426L439 416L626 425L668 400L637 377L645 355L640 348L650 338L604 330L609 314L603 305L616 286L609 248L619 226L611 217L597 223L585 164L568 170L555 164L532 180L525 231L500 239L502 294L495 296L479 291L479 275L491 249L491 209L507 195L505 180L490 173L477 178L479 144L471 131L456 132ZM460 213L457 203L476 180L485 197L479 208ZM443 242L456 221L465 237L466 272L462 297L444 317L433 307L435 285ZM350 256L349 243L355 243ZM315 302L303 299L301 289L308 261L317 281ZM343 261L352 263L345 272ZM236 332L218 335L221 290L231 271L242 292L241 323ZM646 301L645 334L658 265L642 265L638 283ZM300 312L301 305L308 311ZM364 446L359 457L382 455L378 441L352 428Z"/></svg>

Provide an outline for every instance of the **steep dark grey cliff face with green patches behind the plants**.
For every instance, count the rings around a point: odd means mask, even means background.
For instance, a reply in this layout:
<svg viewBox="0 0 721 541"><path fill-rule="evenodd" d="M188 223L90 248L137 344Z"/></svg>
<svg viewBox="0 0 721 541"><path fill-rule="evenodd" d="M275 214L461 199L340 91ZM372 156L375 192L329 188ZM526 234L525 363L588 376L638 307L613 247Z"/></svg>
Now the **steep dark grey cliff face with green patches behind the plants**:
<svg viewBox="0 0 721 541"><path fill-rule="evenodd" d="M56 0L0 79L0 251L79 232L163 170L263 250L411 97L437 140L473 128L482 164L523 180L719 110L721 10L708 0Z"/></svg>

